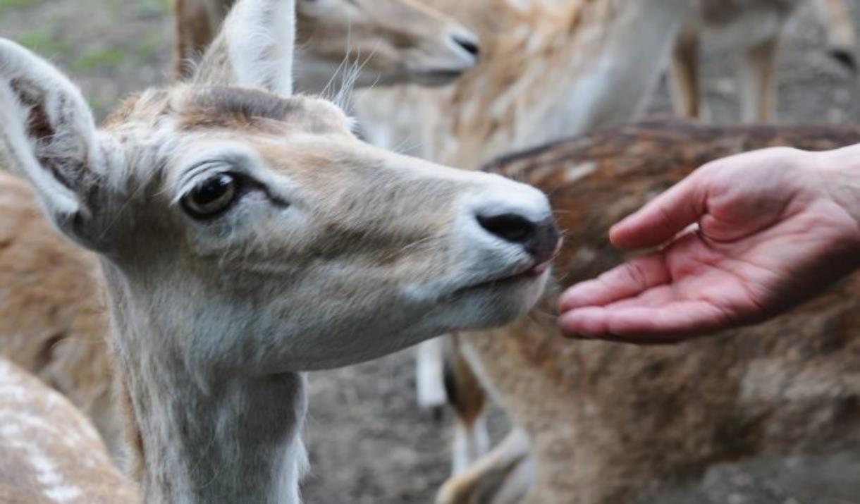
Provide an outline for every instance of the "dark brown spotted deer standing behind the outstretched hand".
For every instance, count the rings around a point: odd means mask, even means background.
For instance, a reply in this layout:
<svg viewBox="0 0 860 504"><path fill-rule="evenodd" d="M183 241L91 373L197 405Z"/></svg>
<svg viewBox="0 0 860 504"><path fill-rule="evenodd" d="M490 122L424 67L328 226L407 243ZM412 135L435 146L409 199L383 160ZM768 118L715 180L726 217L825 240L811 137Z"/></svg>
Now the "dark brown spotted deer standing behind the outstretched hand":
<svg viewBox="0 0 860 504"><path fill-rule="evenodd" d="M693 169L741 151L857 143L853 127L654 120L488 163L485 172L548 192L565 241L529 316L457 335L466 370L513 430L445 482L437 504L660 501L720 462L856 452L856 275L771 323L670 347L564 340L556 300L629 259L609 242L611 224Z"/></svg>

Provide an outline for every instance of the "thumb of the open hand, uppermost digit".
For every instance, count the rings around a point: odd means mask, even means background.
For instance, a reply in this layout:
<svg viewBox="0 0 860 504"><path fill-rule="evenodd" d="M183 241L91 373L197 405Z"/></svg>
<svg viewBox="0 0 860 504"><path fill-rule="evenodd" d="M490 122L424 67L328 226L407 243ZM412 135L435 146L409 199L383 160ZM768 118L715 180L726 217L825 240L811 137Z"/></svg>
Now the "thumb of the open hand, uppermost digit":
<svg viewBox="0 0 860 504"><path fill-rule="evenodd" d="M612 226L612 243L623 249L656 247L698 222L707 210L707 187L706 179L697 175L690 175Z"/></svg>

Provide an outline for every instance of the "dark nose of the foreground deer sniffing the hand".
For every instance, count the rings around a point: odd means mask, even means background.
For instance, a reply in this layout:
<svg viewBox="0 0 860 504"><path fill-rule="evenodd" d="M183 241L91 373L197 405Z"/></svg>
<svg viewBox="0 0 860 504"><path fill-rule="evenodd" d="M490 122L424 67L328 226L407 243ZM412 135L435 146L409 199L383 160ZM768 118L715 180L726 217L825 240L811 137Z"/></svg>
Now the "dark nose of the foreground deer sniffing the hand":
<svg viewBox="0 0 860 504"><path fill-rule="evenodd" d="M478 224L488 233L508 243L520 245L537 263L550 261L561 234L552 218L535 221L519 213L478 214Z"/></svg>

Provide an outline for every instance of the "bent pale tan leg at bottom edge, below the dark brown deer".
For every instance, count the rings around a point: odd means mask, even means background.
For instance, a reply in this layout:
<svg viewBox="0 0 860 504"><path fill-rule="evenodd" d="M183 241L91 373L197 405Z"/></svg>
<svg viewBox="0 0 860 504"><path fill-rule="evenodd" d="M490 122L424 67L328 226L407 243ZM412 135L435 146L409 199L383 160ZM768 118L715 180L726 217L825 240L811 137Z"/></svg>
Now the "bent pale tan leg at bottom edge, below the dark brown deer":
<svg viewBox="0 0 860 504"><path fill-rule="evenodd" d="M525 433L514 429L492 452L439 489L436 504L515 504L534 481Z"/></svg>

